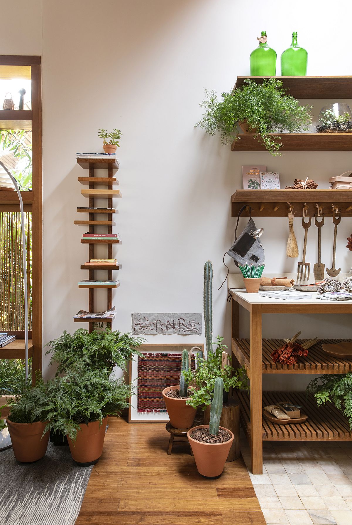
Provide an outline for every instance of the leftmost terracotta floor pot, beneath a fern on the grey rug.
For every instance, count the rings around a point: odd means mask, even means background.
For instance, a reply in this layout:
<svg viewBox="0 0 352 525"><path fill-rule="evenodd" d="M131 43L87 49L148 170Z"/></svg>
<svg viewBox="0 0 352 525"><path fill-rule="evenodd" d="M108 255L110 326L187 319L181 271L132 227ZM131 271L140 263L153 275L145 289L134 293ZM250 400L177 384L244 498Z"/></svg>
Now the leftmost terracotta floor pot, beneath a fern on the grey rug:
<svg viewBox="0 0 352 525"><path fill-rule="evenodd" d="M49 432L41 437L46 427L45 422L13 423L6 419L6 423L17 461L32 463L45 456L49 442Z"/></svg>

